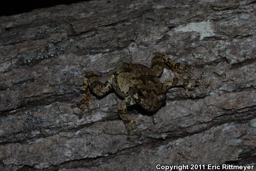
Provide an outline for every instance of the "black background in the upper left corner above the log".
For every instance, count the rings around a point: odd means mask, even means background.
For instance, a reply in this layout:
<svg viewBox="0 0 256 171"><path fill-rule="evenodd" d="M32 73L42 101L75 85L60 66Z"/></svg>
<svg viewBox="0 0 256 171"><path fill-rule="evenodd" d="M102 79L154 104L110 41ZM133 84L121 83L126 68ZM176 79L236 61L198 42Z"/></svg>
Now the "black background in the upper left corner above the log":
<svg viewBox="0 0 256 171"><path fill-rule="evenodd" d="M89 0L0 0L0 16L29 12L37 8L53 7L60 4L74 4Z"/></svg>

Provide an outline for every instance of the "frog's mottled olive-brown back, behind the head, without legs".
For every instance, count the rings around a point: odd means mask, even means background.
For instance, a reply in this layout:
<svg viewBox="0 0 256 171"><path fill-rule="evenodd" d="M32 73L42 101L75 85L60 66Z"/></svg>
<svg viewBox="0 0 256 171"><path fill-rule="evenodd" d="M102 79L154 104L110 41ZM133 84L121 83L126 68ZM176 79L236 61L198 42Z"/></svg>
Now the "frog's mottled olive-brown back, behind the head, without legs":
<svg viewBox="0 0 256 171"><path fill-rule="evenodd" d="M138 89L161 88L159 78L151 68L138 63L123 63L115 72L113 87L121 97L127 97Z"/></svg>

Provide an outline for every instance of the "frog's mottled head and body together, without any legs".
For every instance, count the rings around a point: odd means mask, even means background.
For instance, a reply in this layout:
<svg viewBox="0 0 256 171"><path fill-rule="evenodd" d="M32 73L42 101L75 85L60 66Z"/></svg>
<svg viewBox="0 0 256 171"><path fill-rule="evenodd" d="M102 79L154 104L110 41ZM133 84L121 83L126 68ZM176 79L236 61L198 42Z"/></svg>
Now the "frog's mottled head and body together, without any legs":
<svg viewBox="0 0 256 171"><path fill-rule="evenodd" d="M114 74L113 89L120 97L131 97L132 103L147 111L158 110L165 99L159 78L141 64L123 63Z"/></svg>

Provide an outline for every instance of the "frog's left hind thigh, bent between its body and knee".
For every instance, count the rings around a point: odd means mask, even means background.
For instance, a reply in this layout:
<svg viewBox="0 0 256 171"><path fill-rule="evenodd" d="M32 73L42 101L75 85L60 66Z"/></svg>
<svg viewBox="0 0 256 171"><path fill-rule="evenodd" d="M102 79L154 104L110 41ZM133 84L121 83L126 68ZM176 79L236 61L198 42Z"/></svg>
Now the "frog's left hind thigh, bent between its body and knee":
<svg viewBox="0 0 256 171"><path fill-rule="evenodd" d="M103 97L106 93L113 89L112 83L114 75L112 75L104 84L100 82L98 75L94 74L92 71L88 72L86 77L88 78L91 91L97 97Z"/></svg>

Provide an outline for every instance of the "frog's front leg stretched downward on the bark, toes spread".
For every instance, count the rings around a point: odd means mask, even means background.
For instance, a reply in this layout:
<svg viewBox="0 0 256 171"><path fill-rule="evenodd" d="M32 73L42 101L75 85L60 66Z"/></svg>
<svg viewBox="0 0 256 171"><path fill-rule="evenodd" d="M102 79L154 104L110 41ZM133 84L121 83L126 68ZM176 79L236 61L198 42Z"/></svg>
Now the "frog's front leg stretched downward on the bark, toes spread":
<svg viewBox="0 0 256 171"><path fill-rule="evenodd" d="M126 97L123 101L120 102L118 105L118 113L120 115L120 118L124 122L124 126L127 130L127 140L130 141L130 135L131 133L141 136L141 133L139 131L136 131L136 125L141 124L141 122L134 121L130 115L128 115L127 107L135 104L135 101L133 97Z"/></svg>

